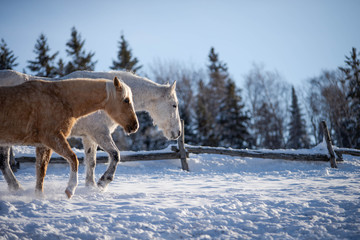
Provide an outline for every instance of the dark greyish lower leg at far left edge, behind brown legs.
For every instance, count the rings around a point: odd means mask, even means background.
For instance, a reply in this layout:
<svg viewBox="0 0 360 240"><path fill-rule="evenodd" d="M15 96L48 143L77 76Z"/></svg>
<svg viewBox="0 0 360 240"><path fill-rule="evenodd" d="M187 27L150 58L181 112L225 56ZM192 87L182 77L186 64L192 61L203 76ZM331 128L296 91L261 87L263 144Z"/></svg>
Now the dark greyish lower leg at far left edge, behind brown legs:
<svg viewBox="0 0 360 240"><path fill-rule="evenodd" d="M0 147L0 169L8 184L10 191L21 189L20 183L17 181L13 171L10 168L9 156L10 147Z"/></svg>

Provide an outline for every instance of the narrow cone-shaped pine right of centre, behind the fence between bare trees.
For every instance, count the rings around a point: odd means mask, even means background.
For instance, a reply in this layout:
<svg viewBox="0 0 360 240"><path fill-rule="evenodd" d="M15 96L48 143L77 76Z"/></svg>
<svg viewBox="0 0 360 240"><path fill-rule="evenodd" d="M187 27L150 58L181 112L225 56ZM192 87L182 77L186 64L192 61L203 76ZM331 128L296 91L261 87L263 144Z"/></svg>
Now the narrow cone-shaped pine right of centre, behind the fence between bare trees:
<svg viewBox="0 0 360 240"><path fill-rule="evenodd" d="M306 132L306 124L299 107L294 87L292 87L292 103L290 109L289 141L290 148L308 148L310 140Z"/></svg>

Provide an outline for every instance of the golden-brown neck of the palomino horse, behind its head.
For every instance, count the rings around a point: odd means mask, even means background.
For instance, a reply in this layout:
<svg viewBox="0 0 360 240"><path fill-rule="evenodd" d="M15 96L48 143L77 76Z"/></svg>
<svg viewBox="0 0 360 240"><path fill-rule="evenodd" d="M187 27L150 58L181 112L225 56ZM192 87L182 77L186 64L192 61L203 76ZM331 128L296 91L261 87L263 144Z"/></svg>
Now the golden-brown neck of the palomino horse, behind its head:
<svg viewBox="0 0 360 240"><path fill-rule="evenodd" d="M63 89L62 97L71 106L75 118L104 109L106 81L68 80L56 83Z"/></svg>

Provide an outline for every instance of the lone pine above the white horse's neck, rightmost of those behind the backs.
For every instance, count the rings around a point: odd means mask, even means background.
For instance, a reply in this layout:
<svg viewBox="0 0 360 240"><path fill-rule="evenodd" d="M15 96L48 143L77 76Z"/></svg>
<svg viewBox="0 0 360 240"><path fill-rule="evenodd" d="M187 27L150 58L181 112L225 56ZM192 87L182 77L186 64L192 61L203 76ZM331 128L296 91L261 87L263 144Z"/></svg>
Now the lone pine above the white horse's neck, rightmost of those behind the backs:
<svg viewBox="0 0 360 240"><path fill-rule="evenodd" d="M113 70L127 70L136 72L142 66L136 66L139 63L137 58L132 57L131 49L129 49L129 44L125 40L124 35L121 35L121 40L119 43L119 51L117 55L117 61L113 60L113 65L110 67Z"/></svg>

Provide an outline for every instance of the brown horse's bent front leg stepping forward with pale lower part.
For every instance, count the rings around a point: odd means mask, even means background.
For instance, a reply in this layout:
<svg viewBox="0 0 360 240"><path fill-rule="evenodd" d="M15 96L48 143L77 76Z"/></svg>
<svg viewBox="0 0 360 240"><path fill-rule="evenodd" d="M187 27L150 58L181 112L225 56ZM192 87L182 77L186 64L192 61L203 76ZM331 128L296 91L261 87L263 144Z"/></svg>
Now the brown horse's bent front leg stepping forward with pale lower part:
<svg viewBox="0 0 360 240"><path fill-rule="evenodd" d="M77 159L76 154L71 150L71 147L63 134L58 134L55 137L52 136L51 139L48 139L47 146L52 148L54 152L63 156L70 164L70 177L65 193L68 198L71 198L78 185L79 160Z"/></svg>

